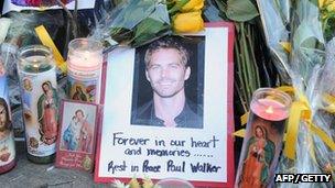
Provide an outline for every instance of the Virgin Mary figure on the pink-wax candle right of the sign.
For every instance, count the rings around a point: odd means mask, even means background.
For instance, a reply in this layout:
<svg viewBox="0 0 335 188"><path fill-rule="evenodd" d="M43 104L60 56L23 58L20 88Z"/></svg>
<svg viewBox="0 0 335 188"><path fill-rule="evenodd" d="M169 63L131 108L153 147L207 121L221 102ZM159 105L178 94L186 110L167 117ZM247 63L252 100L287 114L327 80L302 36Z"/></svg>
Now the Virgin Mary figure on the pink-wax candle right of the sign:
<svg viewBox="0 0 335 188"><path fill-rule="evenodd" d="M244 161L239 187L266 187L275 153L274 143L268 139L267 130L257 124L247 146L248 153Z"/></svg>

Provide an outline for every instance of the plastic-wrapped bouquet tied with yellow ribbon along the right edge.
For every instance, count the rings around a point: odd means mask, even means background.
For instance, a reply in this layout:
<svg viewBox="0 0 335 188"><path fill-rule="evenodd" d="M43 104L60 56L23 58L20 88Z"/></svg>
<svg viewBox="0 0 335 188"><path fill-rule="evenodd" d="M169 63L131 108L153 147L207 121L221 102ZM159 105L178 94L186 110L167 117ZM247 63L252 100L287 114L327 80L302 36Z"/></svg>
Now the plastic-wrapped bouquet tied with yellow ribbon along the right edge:
<svg viewBox="0 0 335 188"><path fill-rule="evenodd" d="M279 59L278 66L292 79L295 93L278 173L333 175L328 183L294 187L335 186L333 4L322 0L258 0L264 33L271 33L267 35L268 46ZM292 10L289 16L284 8Z"/></svg>

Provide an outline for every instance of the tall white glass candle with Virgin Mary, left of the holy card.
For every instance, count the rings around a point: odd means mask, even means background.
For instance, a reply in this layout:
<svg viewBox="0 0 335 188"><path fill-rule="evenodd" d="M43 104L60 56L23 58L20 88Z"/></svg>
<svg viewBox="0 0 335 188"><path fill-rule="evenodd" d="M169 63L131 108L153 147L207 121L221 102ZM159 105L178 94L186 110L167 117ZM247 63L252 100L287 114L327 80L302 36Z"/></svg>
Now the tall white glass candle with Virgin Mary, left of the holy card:
<svg viewBox="0 0 335 188"><path fill-rule="evenodd" d="M51 49L43 45L20 48L18 70L28 158L51 163L56 152L60 101Z"/></svg>

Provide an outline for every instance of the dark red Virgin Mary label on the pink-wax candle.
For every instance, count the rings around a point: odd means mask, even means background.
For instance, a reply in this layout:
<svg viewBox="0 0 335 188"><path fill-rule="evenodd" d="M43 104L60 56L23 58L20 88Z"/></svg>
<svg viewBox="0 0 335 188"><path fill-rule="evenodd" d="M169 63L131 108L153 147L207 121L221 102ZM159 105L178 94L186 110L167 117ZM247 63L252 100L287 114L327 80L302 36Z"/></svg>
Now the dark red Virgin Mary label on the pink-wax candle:
<svg viewBox="0 0 335 188"><path fill-rule="evenodd" d="M238 187L268 187L281 151L284 123L285 119L271 121L250 112L237 172Z"/></svg>

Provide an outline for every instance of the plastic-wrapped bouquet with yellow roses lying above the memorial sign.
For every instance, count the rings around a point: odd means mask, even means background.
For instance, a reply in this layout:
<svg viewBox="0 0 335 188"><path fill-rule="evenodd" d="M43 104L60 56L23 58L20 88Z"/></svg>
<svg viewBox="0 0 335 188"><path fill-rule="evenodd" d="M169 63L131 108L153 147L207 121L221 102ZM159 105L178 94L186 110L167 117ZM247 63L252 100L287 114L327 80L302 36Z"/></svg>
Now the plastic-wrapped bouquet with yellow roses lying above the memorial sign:
<svg viewBox="0 0 335 188"><path fill-rule="evenodd" d="M138 47L158 37L204 29L204 0L126 0L99 22L93 37Z"/></svg>

